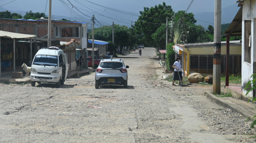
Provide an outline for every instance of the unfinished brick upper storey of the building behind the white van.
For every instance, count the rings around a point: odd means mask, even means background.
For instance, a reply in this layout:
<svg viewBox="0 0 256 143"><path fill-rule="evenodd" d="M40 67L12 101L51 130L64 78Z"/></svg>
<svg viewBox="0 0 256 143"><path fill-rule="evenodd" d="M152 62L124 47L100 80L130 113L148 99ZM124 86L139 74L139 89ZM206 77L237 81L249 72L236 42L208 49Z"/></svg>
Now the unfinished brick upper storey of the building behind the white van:
<svg viewBox="0 0 256 143"><path fill-rule="evenodd" d="M52 39L70 42L71 39L82 42L82 49L87 47L87 23L63 20L51 20ZM21 34L32 34L38 38L48 38L48 19L20 20L0 19L0 30ZM85 44L83 44L85 43Z"/></svg>

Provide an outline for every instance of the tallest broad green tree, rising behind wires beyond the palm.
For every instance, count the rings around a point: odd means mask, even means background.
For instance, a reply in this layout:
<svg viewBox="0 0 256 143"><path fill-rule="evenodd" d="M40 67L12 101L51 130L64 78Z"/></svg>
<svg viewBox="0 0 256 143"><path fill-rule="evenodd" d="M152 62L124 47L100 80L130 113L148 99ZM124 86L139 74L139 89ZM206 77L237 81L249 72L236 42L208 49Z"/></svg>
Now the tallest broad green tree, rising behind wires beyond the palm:
<svg viewBox="0 0 256 143"><path fill-rule="evenodd" d="M171 18L171 15L174 13L170 5L159 4L155 7L144 7L144 11L139 12L141 15L138 20L135 21L135 29L137 34L143 34L141 41L145 41L147 44L156 46L152 38L152 34L161 26L161 24L155 23L166 23L166 18ZM152 18L151 18L152 17Z"/></svg>

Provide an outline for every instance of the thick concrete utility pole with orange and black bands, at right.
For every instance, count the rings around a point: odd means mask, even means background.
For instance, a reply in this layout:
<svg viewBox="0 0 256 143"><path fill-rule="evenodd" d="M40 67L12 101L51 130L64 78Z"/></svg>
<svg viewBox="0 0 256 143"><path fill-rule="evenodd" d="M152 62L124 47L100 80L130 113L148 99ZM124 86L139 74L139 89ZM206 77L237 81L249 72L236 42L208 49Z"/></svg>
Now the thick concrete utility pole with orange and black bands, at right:
<svg viewBox="0 0 256 143"><path fill-rule="evenodd" d="M220 94L221 0L215 0L213 93Z"/></svg>

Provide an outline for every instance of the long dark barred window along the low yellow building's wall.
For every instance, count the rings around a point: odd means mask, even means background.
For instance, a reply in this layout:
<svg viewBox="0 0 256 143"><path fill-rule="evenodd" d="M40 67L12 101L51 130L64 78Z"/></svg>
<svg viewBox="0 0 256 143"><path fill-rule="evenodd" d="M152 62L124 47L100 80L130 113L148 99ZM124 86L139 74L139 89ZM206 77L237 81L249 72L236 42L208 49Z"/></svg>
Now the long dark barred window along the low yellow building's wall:
<svg viewBox="0 0 256 143"><path fill-rule="evenodd" d="M229 56L229 73L241 73L241 55ZM190 55L190 71L201 74L213 73L213 55ZM226 55L221 55L221 73L226 72Z"/></svg>

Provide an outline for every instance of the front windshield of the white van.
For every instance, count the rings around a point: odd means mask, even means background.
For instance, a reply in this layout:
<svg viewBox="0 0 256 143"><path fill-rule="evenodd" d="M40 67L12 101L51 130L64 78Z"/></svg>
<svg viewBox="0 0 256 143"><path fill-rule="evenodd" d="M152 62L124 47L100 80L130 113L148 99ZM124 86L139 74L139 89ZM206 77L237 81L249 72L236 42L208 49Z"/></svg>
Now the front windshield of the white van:
<svg viewBox="0 0 256 143"><path fill-rule="evenodd" d="M36 55L33 65L58 66L58 58L52 55Z"/></svg>

